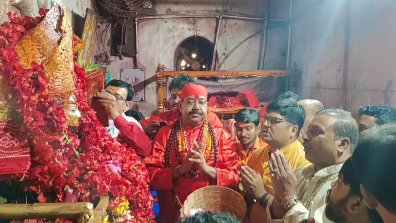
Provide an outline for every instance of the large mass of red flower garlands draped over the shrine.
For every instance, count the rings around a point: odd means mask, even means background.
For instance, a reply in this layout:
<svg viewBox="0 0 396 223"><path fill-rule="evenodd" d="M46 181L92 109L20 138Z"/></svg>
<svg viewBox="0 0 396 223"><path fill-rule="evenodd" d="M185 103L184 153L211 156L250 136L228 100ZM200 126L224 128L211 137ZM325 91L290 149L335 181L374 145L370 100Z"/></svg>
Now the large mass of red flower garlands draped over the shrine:
<svg viewBox="0 0 396 223"><path fill-rule="evenodd" d="M36 27L46 12L40 9L41 16L36 18L8 13L11 22L0 27L0 79L10 86L9 98L17 102L16 110L24 120L21 131L32 144L30 170L15 178L25 190L36 192L40 202L62 202L67 188L80 192L78 201L93 201L107 194L125 196L134 217L128 222L149 222L154 218L153 198L145 164L133 149L127 150L126 145L110 138L88 107L83 90L85 70L74 62L76 97L82 113L76 135L68 131L64 108L56 107L49 98L43 65L32 63L30 69L23 69L18 63L15 42ZM120 175L107 169L109 160L118 160Z"/></svg>

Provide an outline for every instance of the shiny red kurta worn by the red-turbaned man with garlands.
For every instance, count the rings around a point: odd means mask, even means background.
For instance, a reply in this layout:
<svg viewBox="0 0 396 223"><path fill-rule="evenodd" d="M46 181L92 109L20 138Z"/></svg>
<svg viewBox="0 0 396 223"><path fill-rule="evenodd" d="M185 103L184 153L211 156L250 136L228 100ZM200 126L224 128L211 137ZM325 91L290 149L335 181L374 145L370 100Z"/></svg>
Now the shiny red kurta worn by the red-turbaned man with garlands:
<svg viewBox="0 0 396 223"><path fill-rule="evenodd" d="M175 146L171 147L172 167L165 168L166 146L168 143L171 125L160 129L153 141L153 154L146 158L146 166L150 179L150 189L157 191L158 203L160 205L160 223L176 223L179 220L180 210L173 199L171 189L175 189L180 202L194 190L206 186L209 177L205 173L200 173L195 179L179 177L172 183L172 169L179 165L175 156ZM189 148L193 148L193 139L198 139L200 128L192 129L186 126L187 143ZM211 185L228 186L236 188L238 185L238 159L236 157L234 141L231 135L221 127L213 127L215 133L218 161L216 169L216 181L210 181ZM214 151L212 151L209 165L213 166ZM210 198L208 198L210 199Z"/></svg>

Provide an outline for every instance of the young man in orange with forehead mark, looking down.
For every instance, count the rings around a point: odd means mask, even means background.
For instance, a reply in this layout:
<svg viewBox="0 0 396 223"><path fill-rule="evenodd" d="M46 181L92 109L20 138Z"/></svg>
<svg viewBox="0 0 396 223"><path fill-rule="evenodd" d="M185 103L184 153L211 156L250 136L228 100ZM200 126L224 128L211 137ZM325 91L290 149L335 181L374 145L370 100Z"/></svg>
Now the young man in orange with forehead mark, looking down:
<svg viewBox="0 0 396 223"><path fill-rule="evenodd" d="M228 120L227 131L235 142L236 155L241 165L246 165L251 154L258 148L267 146L257 135L261 132L259 113L255 109L244 108L235 113L235 119Z"/></svg>

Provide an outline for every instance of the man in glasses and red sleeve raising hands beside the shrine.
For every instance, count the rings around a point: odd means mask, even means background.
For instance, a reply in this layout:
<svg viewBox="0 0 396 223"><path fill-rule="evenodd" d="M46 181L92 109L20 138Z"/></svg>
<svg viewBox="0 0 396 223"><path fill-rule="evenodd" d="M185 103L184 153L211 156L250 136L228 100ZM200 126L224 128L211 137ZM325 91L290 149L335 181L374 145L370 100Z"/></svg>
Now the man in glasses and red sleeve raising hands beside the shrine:
<svg viewBox="0 0 396 223"><path fill-rule="evenodd" d="M136 119L124 114L129 110L134 95L132 85L120 80L111 80L106 90L96 93L94 97L98 98L109 116L110 125L106 127L109 135L121 143L128 144L137 155L145 158L151 153L151 140Z"/></svg>

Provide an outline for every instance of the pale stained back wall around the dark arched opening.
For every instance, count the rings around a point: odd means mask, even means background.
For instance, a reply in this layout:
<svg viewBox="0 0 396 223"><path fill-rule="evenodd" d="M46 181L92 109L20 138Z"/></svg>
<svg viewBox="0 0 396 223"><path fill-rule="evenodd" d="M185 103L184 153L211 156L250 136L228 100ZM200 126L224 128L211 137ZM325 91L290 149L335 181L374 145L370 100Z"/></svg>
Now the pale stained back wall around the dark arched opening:
<svg viewBox="0 0 396 223"><path fill-rule="evenodd" d="M283 5L288 2L288 0L278 0L271 4L272 12L270 18L286 19L288 17L288 9L285 9ZM244 13L264 17L265 0L158 0L156 4L153 4L152 10L157 14L172 15L186 13ZM261 22L223 19L217 43L219 61L223 60L224 55L238 43L260 30L262 25ZM174 54L179 43L185 38L194 35L205 37L213 42L215 26L215 18L198 18L195 19L195 22L192 18L139 21L138 67L145 69L145 79L150 80L147 81L150 83L145 88L145 102L133 102L132 108L138 109L144 115L156 113L156 83L155 79L151 77L156 75L158 63L164 64L168 69L173 70ZM103 24L102 27L104 27ZM286 63L287 28L271 29L268 31L267 40L268 50L265 58L265 69L279 69L282 63ZM221 69L256 70L259 63L261 42L261 35L256 35L250 44L249 41L244 42L231 54ZM109 34L104 35L103 43L98 41L95 44L93 54L98 54L99 49L110 50ZM133 68L134 61L132 58L119 60L118 57L112 56L110 62L104 66L109 67L112 79L118 79L120 77L120 69Z"/></svg>

